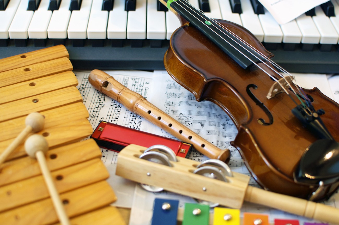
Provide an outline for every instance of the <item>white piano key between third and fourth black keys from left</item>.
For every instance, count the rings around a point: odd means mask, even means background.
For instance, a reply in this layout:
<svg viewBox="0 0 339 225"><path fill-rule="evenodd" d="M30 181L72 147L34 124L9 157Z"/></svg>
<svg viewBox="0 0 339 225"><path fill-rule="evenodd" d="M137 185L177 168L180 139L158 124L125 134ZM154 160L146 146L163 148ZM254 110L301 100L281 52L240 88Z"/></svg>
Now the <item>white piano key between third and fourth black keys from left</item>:
<svg viewBox="0 0 339 225"><path fill-rule="evenodd" d="M48 38L67 38L67 27L71 11L69 11L70 0L62 0L58 10L54 10L47 28Z"/></svg>

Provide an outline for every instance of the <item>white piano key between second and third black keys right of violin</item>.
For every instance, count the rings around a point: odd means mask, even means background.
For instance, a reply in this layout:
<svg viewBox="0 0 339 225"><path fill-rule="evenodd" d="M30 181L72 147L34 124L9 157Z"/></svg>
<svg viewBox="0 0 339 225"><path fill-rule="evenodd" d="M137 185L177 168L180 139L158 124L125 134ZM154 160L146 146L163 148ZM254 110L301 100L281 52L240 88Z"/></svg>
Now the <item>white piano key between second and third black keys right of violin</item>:
<svg viewBox="0 0 339 225"><path fill-rule="evenodd" d="M261 27L258 15L254 13L250 0L240 0L242 14L240 19L243 27L248 29L260 42L264 39L264 32Z"/></svg>

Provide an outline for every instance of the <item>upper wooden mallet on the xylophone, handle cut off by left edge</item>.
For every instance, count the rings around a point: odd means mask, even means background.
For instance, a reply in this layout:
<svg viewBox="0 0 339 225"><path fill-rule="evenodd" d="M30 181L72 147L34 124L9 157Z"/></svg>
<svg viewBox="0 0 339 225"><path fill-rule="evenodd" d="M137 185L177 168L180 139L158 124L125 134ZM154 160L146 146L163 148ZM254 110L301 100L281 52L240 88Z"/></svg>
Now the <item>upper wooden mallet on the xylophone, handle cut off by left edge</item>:
<svg viewBox="0 0 339 225"><path fill-rule="evenodd" d="M26 127L20 132L20 134L14 139L14 141L2 152L0 156L0 165L6 160L9 154L11 154L14 149L16 149L21 142L28 136L31 132L38 132L43 129L44 126L44 116L39 112L33 112L28 114L25 120Z"/></svg>

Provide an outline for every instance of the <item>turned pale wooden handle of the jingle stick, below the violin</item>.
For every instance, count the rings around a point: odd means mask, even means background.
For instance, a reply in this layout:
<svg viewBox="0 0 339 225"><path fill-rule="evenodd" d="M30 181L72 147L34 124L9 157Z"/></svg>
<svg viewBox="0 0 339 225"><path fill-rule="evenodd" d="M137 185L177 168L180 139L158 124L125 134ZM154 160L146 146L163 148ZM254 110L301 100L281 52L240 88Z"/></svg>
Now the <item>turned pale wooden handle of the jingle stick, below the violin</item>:
<svg viewBox="0 0 339 225"><path fill-rule="evenodd" d="M339 224L339 209L324 204L282 195L252 186L247 187L244 200L299 216Z"/></svg>

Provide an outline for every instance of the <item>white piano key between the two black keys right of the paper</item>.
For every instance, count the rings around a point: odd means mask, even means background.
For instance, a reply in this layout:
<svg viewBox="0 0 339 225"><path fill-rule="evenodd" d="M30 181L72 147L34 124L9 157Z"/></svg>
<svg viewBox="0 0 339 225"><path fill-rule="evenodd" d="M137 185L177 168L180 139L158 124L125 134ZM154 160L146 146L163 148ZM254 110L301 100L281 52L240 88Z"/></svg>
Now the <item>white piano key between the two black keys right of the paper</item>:
<svg viewBox="0 0 339 225"><path fill-rule="evenodd" d="M311 16L305 14L296 18L296 22L302 34L301 43L318 44L320 41L320 33L314 24Z"/></svg>

